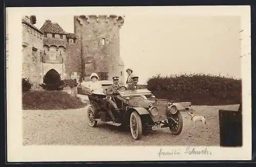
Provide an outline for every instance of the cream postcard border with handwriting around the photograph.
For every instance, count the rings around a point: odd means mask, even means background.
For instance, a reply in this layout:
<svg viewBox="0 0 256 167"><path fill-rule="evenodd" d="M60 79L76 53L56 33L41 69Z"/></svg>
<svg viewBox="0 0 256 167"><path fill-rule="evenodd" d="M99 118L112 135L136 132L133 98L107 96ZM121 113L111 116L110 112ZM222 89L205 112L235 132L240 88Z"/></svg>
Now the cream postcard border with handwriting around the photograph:
<svg viewBox="0 0 256 167"><path fill-rule="evenodd" d="M65 10L65 12L63 12ZM250 160L251 159L251 60L250 38L245 38L241 57L243 82L243 147L194 147L211 152L208 155L185 154L186 146L23 146L22 144L22 25L23 15L38 12L54 15L108 14L177 16L237 15L241 29L250 35L250 6L184 6L184 7L59 7L7 8L9 34L9 68L7 70L7 156L9 162L32 161L138 161L138 160ZM247 54L248 53L248 54ZM159 151L177 149L180 155L160 156ZM193 148L193 147L191 147ZM190 148L190 149L191 149Z"/></svg>

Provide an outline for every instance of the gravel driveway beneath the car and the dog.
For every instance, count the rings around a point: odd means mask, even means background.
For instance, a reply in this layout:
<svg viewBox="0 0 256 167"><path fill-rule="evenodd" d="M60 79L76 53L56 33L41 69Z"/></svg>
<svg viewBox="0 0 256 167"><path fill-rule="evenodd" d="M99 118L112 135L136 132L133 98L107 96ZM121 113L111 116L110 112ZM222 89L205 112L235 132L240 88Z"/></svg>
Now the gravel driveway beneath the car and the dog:
<svg viewBox="0 0 256 167"><path fill-rule="evenodd" d="M24 145L189 145L219 146L218 108L192 106L195 114L204 115L208 124L205 129L198 123L193 128L190 117L182 112L183 130L172 135L169 128L146 131L139 141L132 138L129 129L98 123L89 127L86 109L72 110L23 110Z"/></svg>

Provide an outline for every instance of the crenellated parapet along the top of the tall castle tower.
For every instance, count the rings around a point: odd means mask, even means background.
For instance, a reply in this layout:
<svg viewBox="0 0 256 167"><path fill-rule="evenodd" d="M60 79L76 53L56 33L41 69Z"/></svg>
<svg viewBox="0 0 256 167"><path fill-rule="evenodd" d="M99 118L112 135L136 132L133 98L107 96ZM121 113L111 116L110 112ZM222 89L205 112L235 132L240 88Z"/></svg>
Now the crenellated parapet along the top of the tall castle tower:
<svg viewBox="0 0 256 167"><path fill-rule="evenodd" d="M121 28L124 23L124 16L117 15L80 15L75 16L80 25L88 25L92 23L109 23Z"/></svg>

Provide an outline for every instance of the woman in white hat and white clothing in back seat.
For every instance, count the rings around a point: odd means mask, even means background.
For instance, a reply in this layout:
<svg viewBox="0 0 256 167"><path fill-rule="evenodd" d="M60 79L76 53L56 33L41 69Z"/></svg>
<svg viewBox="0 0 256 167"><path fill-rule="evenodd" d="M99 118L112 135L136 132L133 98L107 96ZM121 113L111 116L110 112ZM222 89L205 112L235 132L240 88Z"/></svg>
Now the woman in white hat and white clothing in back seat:
<svg viewBox="0 0 256 167"><path fill-rule="evenodd" d="M90 79L92 80L92 82L84 86L89 88L95 94L102 94L103 89L101 87L100 81L98 81L99 76L96 73L92 73Z"/></svg>

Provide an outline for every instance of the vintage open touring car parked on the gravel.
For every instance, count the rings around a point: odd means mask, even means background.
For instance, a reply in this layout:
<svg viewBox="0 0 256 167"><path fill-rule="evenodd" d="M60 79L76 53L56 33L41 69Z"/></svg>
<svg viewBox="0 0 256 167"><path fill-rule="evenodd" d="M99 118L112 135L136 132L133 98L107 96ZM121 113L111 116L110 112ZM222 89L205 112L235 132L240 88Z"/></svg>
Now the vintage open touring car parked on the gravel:
<svg viewBox="0 0 256 167"><path fill-rule="evenodd" d="M175 135L181 133L183 121L180 111L185 110L181 104L156 99L148 89L126 90L122 86L117 91L118 94L112 96L89 93L87 116L91 127L96 127L98 121L114 126L129 126L136 140L141 138L145 129L167 127ZM118 121L113 120L114 111L117 111L114 116L118 117Z"/></svg>

